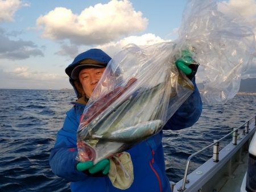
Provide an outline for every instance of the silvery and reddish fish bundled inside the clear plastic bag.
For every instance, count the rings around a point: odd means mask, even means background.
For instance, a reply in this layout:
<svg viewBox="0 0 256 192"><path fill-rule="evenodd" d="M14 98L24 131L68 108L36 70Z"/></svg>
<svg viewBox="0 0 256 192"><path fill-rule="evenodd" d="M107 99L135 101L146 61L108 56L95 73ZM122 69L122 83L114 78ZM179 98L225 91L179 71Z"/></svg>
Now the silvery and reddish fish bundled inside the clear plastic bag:
<svg viewBox="0 0 256 192"><path fill-rule="evenodd" d="M171 80L171 77L168 78ZM187 89L193 84L177 78ZM166 95L175 97L171 81L155 86L137 87L137 78L130 78L89 106L77 131L78 160L94 163L126 151L142 140L158 133L164 126ZM167 86L172 86L171 96ZM134 88L136 87L136 89Z"/></svg>

